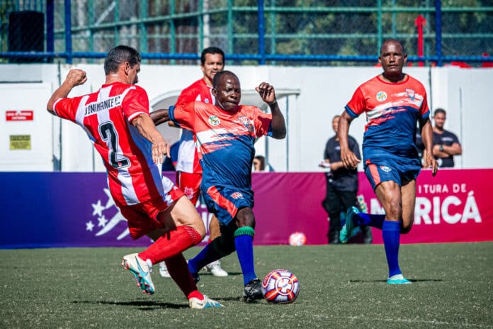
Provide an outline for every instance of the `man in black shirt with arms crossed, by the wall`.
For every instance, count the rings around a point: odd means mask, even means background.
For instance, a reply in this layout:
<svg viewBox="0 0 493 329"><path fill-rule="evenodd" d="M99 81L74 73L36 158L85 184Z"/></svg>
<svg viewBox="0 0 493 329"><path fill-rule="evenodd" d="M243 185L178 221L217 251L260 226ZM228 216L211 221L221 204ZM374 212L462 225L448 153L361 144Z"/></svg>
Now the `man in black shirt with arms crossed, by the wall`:
<svg viewBox="0 0 493 329"><path fill-rule="evenodd" d="M447 113L443 108L437 108L433 112L433 155L436 157L438 167L453 167L454 155L462 154L462 146L454 133L445 130Z"/></svg>

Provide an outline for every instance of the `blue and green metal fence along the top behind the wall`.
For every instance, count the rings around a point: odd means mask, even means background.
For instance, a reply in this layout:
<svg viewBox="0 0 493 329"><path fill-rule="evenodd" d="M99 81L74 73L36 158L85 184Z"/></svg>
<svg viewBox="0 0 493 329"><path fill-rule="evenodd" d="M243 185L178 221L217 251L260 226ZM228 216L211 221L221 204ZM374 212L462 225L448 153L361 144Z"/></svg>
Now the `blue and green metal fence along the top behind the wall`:
<svg viewBox="0 0 493 329"><path fill-rule="evenodd" d="M44 31L45 51L4 51L2 48L0 60L1 58L8 60L34 59L52 62L54 59L63 59L67 63L72 63L74 59L98 59L106 56L106 50L125 40L136 44L136 48L141 51L143 59L166 60L171 64L175 63L176 60L198 60L200 50L212 43L219 44L225 49L225 52L227 52L226 59L237 64L243 62L250 64L254 62L259 65L302 65L308 63L312 65L335 65L337 63L344 63L344 65L348 63L374 64L377 62L378 56L372 54L378 53L382 40L397 38L406 40L408 53L413 54L409 55L409 61L411 62L422 62L426 63L426 65L437 66L447 62L493 62L492 56L487 54L479 55L493 52L493 6L442 7L440 0L423 0L421 1L424 2L423 6L412 8L397 6L397 0L388 0L385 3L382 3L383 0L377 0L373 6L366 4L364 0L360 0L365 6L352 7L286 7L276 6L275 0L259 0L256 1L256 6L234 6L234 1L225 1L226 4L224 4L224 1L220 1L222 6L216 4L217 6L214 9L211 9L213 0L191 1L196 3L197 8L180 12L176 9L176 1L163 0L161 2L162 4L166 3L167 13L154 14L149 12L149 8L153 4L157 6L158 1L141 0L135 4L138 17L131 16L127 19L120 19L120 14L123 11L121 0L111 1L111 4L106 6L106 9L98 11L99 17L96 19L95 4L98 1L86 0L84 4L87 4L89 8L86 13L88 22L78 26L72 25L72 21L74 21L72 7L76 6L77 16L80 16L81 9L77 7L79 6L79 1L32 1L37 2L38 8L39 4L44 5L46 20ZM63 11L60 9L63 9ZM113 16L111 12L113 12ZM412 23L409 23L410 18L417 15L422 15L421 17L429 22L426 28L421 31L421 35L418 35L414 26L411 26ZM467 32L453 31L454 25L459 24L448 23L446 32L443 32L443 16L455 17L457 15L460 15L461 19L472 17L467 15L481 16L481 19L475 19L486 23L483 24L483 30ZM59 18L59 21L56 18ZM60 18L63 19L61 20ZM303 26L303 23L297 26L294 23L293 26L286 25L285 20L289 18L300 18L300 21L305 20L305 26ZM332 29L329 33L315 30L314 28L307 30L306 28L309 24L316 25L318 23L330 26L327 21L336 20L337 18L341 21L339 31ZM472 18L469 19L472 20ZM187 20L191 22L188 23L188 26L192 27L191 32L177 31L179 23ZM351 26L350 23L357 20L370 25L355 26L355 30L347 30L345 26ZM399 20L402 22L398 23L397 21ZM448 20L450 21L450 18ZM217 21L222 22L220 28L216 24ZM244 28L244 26L247 28ZM290 28L289 31L284 30L286 26ZM402 28L402 26L405 28ZM489 28L490 26L492 27L491 29ZM127 31L126 34L123 32L124 29ZM165 33L161 33L159 29L165 30ZM421 49L421 55L418 55L420 50L415 49L415 43L418 43L419 38L421 38L421 42L424 42L424 49ZM101 40L110 41L105 43ZM164 48L167 51L149 52L149 48L153 48L152 44L161 43L163 40L166 41ZM193 41L188 48L185 48L185 51L178 51L176 45L179 40ZM340 45L351 43L351 40L354 40L352 43L354 45L353 48L348 47L344 50L344 47L341 47L343 50L334 50L336 53L330 53L324 48L324 45L327 44ZM460 40L463 40L464 44L461 44L460 47L467 51L472 48L467 48L470 40L478 40L477 49L472 50L478 55L466 53L444 54L444 45L447 50L450 50L454 45L460 43ZM74 41L80 41L81 45L74 46ZM297 42L298 46L290 47L293 41ZM454 44L450 45L452 41ZM310 47L309 50L304 49L304 47L308 48L307 45L312 43L320 44L319 48L315 46ZM358 45L362 43L368 45L363 50L360 50ZM412 48L412 51L409 51L409 48ZM347 52L352 52L352 54L347 54Z"/></svg>

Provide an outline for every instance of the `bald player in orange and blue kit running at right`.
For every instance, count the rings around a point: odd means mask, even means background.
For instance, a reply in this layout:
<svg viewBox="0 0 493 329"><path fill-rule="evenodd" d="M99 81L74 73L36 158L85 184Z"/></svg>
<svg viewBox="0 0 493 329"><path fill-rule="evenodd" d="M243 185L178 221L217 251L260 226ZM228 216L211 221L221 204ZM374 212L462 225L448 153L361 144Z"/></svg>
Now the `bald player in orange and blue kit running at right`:
<svg viewBox="0 0 493 329"><path fill-rule="evenodd" d="M437 170L431 154L430 111L424 86L402 72L407 54L399 41L385 40L378 62L382 65L382 74L356 89L339 119L338 135L342 162L346 168L356 168L361 160L348 147L348 131L351 121L366 113L363 164L385 215L348 209L340 240L347 242L355 224L379 228L389 267L387 283L409 284L411 281L404 278L399 267L400 234L409 233L414 221L416 177L421 169L415 145L416 122L419 122L424 147L429 151L424 157L424 167L431 167L433 176Z"/></svg>

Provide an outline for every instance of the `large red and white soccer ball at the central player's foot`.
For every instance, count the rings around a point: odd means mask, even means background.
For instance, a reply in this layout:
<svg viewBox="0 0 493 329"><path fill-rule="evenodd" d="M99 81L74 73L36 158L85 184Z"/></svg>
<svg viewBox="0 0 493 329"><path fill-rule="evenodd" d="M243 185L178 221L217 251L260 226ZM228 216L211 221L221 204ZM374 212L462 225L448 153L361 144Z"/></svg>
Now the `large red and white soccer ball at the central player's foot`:
<svg viewBox="0 0 493 329"><path fill-rule="evenodd" d="M274 269L262 281L263 298L270 303L293 303L300 293L300 282L287 269Z"/></svg>

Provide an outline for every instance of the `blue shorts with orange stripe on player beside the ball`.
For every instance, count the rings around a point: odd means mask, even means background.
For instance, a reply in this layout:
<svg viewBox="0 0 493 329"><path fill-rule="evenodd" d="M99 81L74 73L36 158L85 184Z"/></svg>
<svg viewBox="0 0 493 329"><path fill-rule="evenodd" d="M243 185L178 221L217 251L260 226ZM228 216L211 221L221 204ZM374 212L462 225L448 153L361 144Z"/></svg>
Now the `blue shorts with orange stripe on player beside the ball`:
<svg viewBox="0 0 493 329"><path fill-rule="evenodd" d="M231 223L241 208L254 208L254 191L233 186L209 186L203 191L205 205L223 225Z"/></svg>

